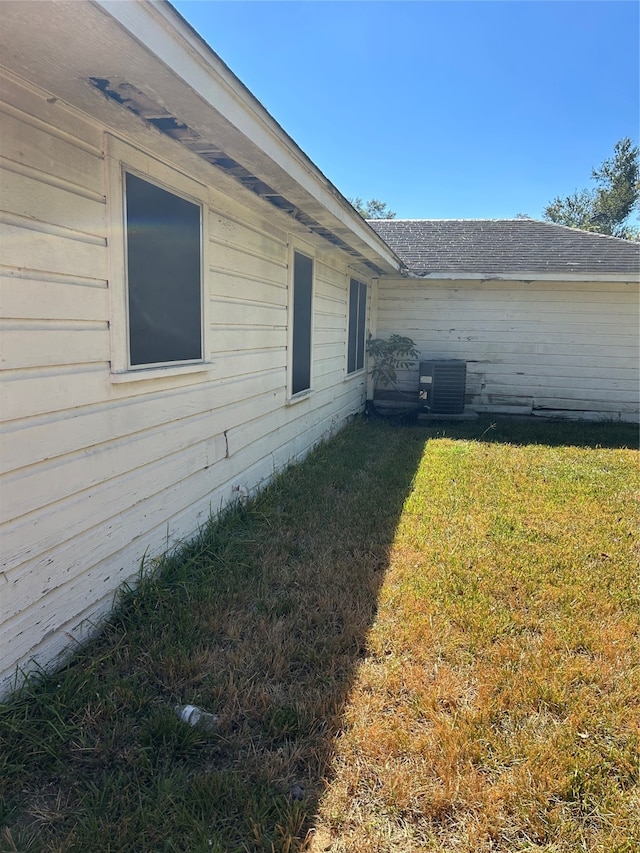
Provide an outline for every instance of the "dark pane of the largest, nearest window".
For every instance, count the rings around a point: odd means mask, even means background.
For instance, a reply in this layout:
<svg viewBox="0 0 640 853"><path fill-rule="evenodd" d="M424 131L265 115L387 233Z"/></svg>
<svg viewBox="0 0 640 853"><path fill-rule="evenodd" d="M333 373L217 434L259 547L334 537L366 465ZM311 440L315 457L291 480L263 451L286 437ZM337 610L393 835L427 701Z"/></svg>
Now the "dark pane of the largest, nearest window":
<svg viewBox="0 0 640 853"><path fill-rule="evenodd" d="M201 210L126 173L131 367L201 361Z"/></svg>

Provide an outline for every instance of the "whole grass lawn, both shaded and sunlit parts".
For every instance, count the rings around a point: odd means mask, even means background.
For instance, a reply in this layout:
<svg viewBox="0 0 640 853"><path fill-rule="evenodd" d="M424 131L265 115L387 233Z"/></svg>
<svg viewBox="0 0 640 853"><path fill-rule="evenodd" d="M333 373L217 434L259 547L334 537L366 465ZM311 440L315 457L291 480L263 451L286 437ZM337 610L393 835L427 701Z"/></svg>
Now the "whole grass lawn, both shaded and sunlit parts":
<svg viewBox="0 0 640 853"><path fill-rule="evenodd" d="M0 706L0 850L637 853L637 442L353 424Z"/></svg>

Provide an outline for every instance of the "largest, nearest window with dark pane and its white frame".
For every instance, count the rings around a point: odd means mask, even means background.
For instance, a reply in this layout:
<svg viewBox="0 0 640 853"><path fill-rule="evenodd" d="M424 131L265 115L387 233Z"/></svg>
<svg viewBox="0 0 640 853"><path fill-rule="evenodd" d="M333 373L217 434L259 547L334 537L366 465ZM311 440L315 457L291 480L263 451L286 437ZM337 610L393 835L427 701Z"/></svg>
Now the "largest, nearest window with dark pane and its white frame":
<svg viewBox="0 0 640 853"><path fill-rule="evenodd" d="M109 381L210 370L209 190L105 133Z"/></svg>

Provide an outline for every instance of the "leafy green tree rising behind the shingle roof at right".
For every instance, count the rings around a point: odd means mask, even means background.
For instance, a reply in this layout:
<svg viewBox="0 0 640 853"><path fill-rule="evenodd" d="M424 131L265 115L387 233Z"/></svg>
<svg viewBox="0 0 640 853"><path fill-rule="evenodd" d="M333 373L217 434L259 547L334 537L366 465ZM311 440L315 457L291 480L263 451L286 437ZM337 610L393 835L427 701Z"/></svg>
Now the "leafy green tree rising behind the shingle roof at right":
<svg viewBox="0 0 640 853"><path fill-rule="evenodd" d="M576 190L566 198L558 196L547 205L543 217L584 231L637 240L638 229L628 220L640 200L639 154L629 137L621 139L613 157L592 170L596 188Z"/></svg>

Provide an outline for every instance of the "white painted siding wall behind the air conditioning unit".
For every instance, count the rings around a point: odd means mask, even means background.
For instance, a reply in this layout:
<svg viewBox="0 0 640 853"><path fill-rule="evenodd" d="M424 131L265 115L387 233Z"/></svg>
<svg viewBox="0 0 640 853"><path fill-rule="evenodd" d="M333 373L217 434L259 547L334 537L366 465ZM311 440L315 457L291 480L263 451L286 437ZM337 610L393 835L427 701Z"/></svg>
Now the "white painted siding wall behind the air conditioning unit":
<svg viewBox="0 0 640 853"><path fill-rule="evenodd" d="M638 420L638 282L385 280L377 334L467 361L479 412ZM403 377L417 387L417 367Z"/></svg>

